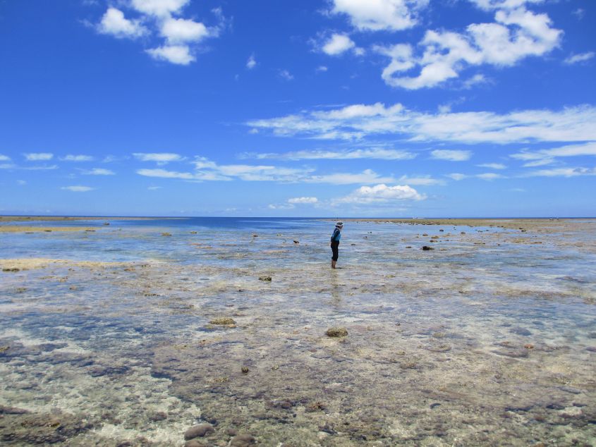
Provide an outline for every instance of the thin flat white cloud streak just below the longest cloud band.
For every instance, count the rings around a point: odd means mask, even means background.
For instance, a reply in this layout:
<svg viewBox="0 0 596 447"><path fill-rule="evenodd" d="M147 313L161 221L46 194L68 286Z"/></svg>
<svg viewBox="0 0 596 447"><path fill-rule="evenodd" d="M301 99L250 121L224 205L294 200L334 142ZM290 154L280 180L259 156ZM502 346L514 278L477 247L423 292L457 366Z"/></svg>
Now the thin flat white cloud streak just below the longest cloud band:
<svg viewBox="0 0 596 447"><path fill-rule="evenodd" d="M282 160L352 160L352 159L379 159L379 160L410 160L416 154L401 149L350 149L346 151L312 150L286 152L285 154L243 154L245 158L256 159L282 159Z"/></svg>

